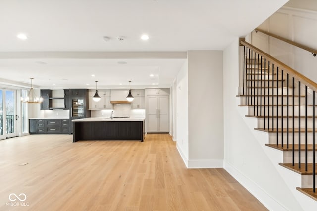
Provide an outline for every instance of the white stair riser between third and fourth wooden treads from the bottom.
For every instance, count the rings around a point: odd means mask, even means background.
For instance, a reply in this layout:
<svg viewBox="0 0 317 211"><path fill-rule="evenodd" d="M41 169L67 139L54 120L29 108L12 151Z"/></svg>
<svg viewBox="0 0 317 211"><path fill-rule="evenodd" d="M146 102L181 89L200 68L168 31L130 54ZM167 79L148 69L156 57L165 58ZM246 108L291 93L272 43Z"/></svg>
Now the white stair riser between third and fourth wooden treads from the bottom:
<svg viewBox="0 0 317 211"><path fill-rule="evenodd" d="M301 144L305 144L305 132L301 132ZM268 143L270 144L276 144L276 132L269 133L268 136ZM298 132L294 132L294 144L298 144ZM293 142L293 134L292 132L288 133L288 143L292 144ZM282 133L278 133L278 143L282 143ZM287 133L283 133L283 143L287 143ZM307 133L307 143L312 144L313 143L313 133ZM315 143L317 145L317 133L315 133Z"/></svg>

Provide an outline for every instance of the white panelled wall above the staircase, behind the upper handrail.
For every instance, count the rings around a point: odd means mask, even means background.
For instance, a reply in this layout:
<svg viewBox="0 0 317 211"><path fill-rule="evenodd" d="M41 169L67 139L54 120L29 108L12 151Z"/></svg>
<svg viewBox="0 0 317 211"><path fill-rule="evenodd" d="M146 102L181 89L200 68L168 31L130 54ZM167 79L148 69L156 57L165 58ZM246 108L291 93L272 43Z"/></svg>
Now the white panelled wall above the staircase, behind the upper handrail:
<svg viewBox="0 0 317 211"><path fill-rule="evenodd" d="M302 2L302 1L301 1ZM308 2L303 1L303 2ZM305 5L305 4L303 4ZM314 6L315 5L315 6ZM317 1L310 4L317 8ZM259 28L317 49L317 11L282 7ZM317 82L317 57L261 32L252 32L252 44Z"/></svg>

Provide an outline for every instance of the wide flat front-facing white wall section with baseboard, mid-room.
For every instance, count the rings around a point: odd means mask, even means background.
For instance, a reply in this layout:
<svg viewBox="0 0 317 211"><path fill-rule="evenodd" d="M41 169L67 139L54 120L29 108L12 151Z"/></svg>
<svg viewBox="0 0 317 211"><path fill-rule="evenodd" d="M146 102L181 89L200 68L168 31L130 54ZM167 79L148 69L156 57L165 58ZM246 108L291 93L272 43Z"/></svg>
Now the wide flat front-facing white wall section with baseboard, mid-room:
<svg viewBox="0 0 317 211"><path fill-rule="evenodd" d="M222 51L188 51L188 123L189 167L222 167Z"/></svg>

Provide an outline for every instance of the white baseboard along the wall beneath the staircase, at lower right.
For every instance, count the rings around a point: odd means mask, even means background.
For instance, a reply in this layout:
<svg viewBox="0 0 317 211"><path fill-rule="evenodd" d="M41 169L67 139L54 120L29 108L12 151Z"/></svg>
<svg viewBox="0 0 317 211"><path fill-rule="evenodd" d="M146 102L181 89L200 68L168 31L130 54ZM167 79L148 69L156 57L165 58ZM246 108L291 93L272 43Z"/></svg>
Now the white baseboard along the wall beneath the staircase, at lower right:
<svg viewBox="0 0 317 211"><path fill-rule="evenodd" d="M223 167L231 176L233 176L243 187L254 195L268 210L287 211L287 209L266 193L256 183L244 176L238 169L230 163L224 161Z"/></svg>

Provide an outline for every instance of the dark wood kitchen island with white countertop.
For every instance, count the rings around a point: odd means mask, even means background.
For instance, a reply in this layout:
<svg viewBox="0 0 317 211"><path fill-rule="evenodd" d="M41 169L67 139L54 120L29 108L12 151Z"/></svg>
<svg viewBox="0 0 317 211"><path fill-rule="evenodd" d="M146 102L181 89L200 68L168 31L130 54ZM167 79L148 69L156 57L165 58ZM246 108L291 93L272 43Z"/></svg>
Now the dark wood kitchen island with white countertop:
<svg viewBox="0 0 317 211"><path fill-rule="evenodd" d="M145 118L83 118L72 120L73 142L80 140L140 140Z"/></svg>

